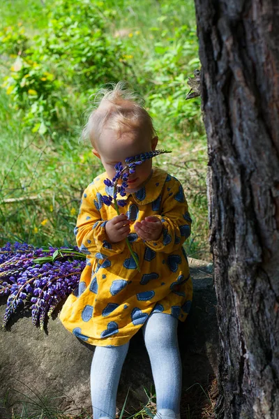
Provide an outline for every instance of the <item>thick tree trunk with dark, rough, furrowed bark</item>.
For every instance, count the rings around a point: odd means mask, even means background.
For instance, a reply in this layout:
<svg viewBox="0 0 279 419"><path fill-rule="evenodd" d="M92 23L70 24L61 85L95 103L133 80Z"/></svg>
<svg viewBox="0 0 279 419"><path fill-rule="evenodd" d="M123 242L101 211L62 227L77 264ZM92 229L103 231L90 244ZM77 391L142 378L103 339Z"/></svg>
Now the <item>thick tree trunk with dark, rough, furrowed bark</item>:
<svg viewBox="0 0 279 419"><path fill-rule="evenodd" d="M279 4L195 0L218 298L217 418L279 418Z"/></svg>

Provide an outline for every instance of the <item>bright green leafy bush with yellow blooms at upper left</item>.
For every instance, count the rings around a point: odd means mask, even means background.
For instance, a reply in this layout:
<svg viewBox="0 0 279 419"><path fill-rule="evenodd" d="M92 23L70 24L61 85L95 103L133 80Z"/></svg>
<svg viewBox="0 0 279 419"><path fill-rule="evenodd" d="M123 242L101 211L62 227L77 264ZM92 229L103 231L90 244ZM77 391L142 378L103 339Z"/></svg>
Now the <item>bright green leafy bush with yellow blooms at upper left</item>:
<svg viewBox="0 0 279 419"><path fill-rule="evenodd" d="M2 53L11 58L15 52L20 54L2 87L13 98L13 108L24 111L23 122L32 132L44 134L49 127L50 135L52 131L56 135L65 128L68 90L115 81L121 45L105 34L96 3L60 0L55 7L50 3L46 13L48 25L43 34L27 38L23 37L24 27L17 32L13 27L3 29ZM105 15L108 18L113 13L108 10Z"/></svg>

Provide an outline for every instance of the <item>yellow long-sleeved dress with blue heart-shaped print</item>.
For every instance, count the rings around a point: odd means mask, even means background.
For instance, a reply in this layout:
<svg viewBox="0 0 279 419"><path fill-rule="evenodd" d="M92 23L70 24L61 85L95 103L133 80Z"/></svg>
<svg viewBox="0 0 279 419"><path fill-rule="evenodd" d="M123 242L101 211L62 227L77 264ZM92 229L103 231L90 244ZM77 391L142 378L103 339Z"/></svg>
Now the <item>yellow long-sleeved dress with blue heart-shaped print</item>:
<svg viewBox="0 0 279 419"><path fill-rule="evenodd" d="M75 235L86 253L86 267L78 288L68 296L60 319L66 329L96 346L126 344L151 313L167 313L185 321L193 296L188 260L182 247L190 235L191 219L180 182L165 170L153 168L142 189L127 194L122 212L128 215L130 241L140 261L140 272L125 240L110 243L105 223L116 216L102 195L106 172L85 189ZM133 228L135 221L158 216L161 237L144 242Z"/></svg>

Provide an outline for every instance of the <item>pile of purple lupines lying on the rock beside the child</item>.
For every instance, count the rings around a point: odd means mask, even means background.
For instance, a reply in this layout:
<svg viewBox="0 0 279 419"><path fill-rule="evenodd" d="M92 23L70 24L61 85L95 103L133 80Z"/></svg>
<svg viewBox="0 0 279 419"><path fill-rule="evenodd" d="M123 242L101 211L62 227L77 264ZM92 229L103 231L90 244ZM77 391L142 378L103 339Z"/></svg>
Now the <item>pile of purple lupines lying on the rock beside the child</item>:
<svg viewBox="0 0 279 419"><path fill-rule="evenodd" d="M2 326L17 308L24 308L43 330L46 316L77 288L85 258L77 247L37 249L15 242L0 248L0 295L8 296Z"/></svg>

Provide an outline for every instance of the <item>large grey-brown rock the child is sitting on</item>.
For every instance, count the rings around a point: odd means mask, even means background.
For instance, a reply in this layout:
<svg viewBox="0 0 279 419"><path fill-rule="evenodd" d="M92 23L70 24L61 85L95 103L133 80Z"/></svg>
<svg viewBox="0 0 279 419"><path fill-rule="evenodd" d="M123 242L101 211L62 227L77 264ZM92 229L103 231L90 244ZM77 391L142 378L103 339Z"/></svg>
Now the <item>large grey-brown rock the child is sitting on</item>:
<svg viewBox="0 0 279 419"><path fill-rule="evenodd" d="M205 383L209 375L216 374L218 353L212 265L192 258L189 263L194 285L193 304L186 322L179 322L184 389L194 383ZM0 304L0 319L3 319L6 299L1 297ZM47 331L42 332L32 325L31 314L18 314L9 328L0 333L1 418L11 407L15 412L22 410L21 404L15 404L16 400L24 399L17 391L34 400L36 394L56 397L50 400L50 406L59 406L73 415L83 409L91 414L89 374L93 346L70 334L58 317L50 319ZM149 391L151 385L149 358L139 332L130 341L123 366L117 397L119 409L129 388L128 411L133 414L142 409L141 403L148 401L143 386Z"/></svg>

